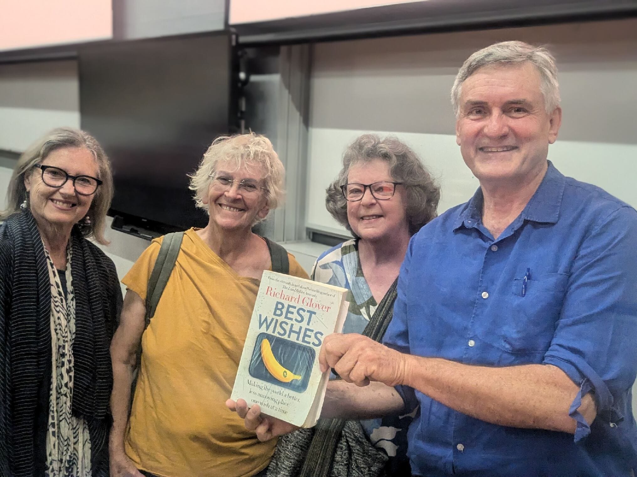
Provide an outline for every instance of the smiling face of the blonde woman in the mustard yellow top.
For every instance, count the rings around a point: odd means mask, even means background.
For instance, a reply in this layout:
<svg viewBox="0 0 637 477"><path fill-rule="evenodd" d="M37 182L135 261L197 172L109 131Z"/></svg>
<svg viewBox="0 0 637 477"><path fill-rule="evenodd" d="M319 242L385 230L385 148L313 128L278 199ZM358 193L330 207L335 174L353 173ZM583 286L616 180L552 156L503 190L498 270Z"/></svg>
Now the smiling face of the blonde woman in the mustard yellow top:
<svg viewBox="0 0 637 477"><path fill-rule="evenodd" d="M210 183L208 196L202 200L208 205L211 224L224 230L249 231L259 219L268 216L266 191L261 189L264 181L260 167L236 169L232 163L220 162L215 167L215 179ZM242 181L245 186L240 188Z"/></svg>

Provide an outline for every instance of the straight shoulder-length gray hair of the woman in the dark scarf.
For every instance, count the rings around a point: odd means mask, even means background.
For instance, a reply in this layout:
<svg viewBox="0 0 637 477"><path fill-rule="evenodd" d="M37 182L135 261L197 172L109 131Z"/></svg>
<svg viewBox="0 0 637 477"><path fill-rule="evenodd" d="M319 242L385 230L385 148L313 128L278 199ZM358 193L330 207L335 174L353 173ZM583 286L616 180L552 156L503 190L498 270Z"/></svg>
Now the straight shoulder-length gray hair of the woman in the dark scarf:
<svg viewBox="0 0 637 477"><path fill-rule="evenodd" d="M106 212L113 198L111 165L99 142L89 133L79 129L55 128L22 153L11 175L7 190L7 208L0 212L0 218L6 219L21 211L20 204L29 195L24 186L25 174L29 174L34 165L41 163L50 153L63 148L86 148L95 158L99 169L98 179L102 181L102 184L97 188L93 202L90 204L89 212L87 212L90 216L90 225L82 227L82 235L95 239L99 244L108 245L110 242L104 238L104 228Z"/></svg>

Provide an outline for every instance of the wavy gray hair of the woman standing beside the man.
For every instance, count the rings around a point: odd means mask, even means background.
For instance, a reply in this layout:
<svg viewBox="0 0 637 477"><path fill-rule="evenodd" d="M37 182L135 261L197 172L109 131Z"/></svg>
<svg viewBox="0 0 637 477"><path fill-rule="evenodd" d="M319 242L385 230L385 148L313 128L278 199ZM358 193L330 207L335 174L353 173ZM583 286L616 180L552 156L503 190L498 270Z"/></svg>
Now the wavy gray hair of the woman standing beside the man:
<svg viewBox="0 0 637 477"><path fill-rule="evenodd" d="M357 162L381 159L389 163L394 181L405 188L406 216L409 233L413 235L431 219L436 218L440 187L424 167L418 155L396 137L380 139L376 134L363 134L355 139L343 155L343 169L326 190L325 205L333 218L356 234L347 220L347 201L341 186L347 184L350 167Z"/></svg>

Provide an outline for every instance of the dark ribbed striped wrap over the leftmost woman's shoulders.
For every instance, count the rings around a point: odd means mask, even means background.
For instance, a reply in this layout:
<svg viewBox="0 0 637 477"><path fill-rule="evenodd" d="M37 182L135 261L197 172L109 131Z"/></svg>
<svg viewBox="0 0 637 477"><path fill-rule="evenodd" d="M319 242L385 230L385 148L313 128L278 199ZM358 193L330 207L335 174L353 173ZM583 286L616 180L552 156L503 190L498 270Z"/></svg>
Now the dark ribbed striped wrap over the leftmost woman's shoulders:
<svg viewBox="0 0 637 477"><path fill-rule="evenodd" d="M80 231L71 234L76 298L73 415L89 425L94 476L108 475L110 340L122 293L115 265ZM36 222L11 216L0 230L0 473L34 473L39 383L51 366L50 280Z"/></svg>

